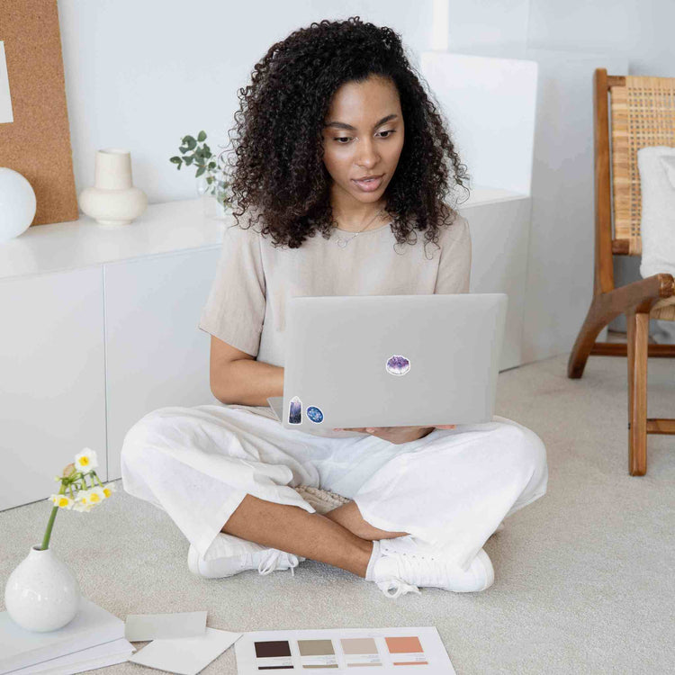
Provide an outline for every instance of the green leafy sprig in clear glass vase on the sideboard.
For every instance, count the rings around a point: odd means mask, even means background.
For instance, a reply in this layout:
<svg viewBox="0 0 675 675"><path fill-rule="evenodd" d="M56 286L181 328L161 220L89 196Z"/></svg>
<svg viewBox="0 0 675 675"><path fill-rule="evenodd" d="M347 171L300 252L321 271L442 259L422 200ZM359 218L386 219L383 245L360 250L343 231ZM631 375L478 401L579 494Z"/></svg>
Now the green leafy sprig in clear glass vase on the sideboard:
<svg viewBox="0 0 675 675"><path fill-rule="evenodd" d="M200 196L212 195L216 202L215 217L223 218L231 206L229 193L231 182L222 160L223 153L213 155L205 140L206 131L200 131L196 139L193 136L184 136L178 148L180 156L171 157L169 161L175 164L178 170L183 165L196 166L194 177L198 179L197 193ZM209 202L204 202L204 209L207 214L213 215Z"/></svg>

